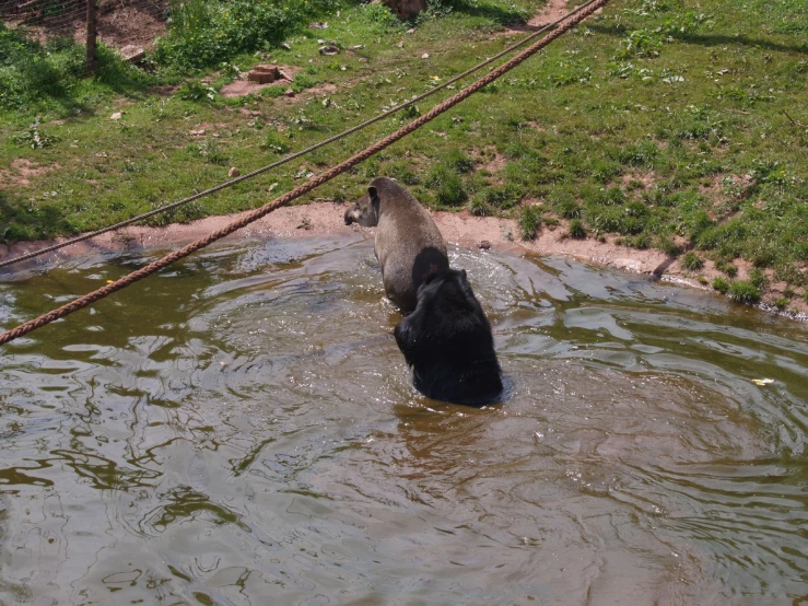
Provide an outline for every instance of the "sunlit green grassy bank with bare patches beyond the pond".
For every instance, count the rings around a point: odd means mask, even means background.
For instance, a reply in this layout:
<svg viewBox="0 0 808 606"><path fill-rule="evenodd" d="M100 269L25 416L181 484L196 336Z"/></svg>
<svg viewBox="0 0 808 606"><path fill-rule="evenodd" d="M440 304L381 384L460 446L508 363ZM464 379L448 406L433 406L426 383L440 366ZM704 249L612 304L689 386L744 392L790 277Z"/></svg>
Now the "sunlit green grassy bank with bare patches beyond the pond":
<svg viewBox="0 0 808 606"><path fill-rule="evenodd" d="M515 39L499 35L504 24L540 7L434 3L430 15L403 24L378 4L323 4L326 30L290 25L294 33L250 43L248 55L226 46L207 58L194 53L186 27L159 46L162 67L151 74L110 60L118 71L79 82L86 90L73 104L21 104L3 114L0 235L102 226L214 185L231 166L246 172L269 163L491 56ZM214 30L224 36L221 27ZM526 237L571 221L575 237L614 234L671 257L687 252L686 267L698 273L713 264L730 288L737 259L746 259L763 279L749 282L752 289L735 285L739 299L753 300L770 281L787 283L788 296L806 296L807 33L808 8L798 0L704 0L698 9L678 0L616 1L317 196L351 198L387 174L435 208L519 217ZM318 38L341 53L319 55ZM173 59L161 55L169 48ZM218 94L237 69L257 61L293 68L297 94L285 96L286 85L235 100ZM219 69L207 82L148 92L161 78L212 63ZM115 112L122 117L110 120ZM260 205L405 119L157 221Z"/></svg>

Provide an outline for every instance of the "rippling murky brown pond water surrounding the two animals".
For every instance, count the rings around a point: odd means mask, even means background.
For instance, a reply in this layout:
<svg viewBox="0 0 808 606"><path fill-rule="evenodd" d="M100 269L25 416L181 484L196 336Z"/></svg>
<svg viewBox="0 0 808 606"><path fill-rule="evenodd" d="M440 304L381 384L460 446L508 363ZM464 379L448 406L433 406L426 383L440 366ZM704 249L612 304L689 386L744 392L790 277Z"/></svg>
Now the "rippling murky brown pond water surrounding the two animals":
<svg viewBox="0 0 808 606"><path fill-rule="evenodd" d="M452 255L504 405L412 389L359 237L221 246L2 348L0 601L808 602L805 326ZM5 276L0 324L144 260Z"/></svg>

